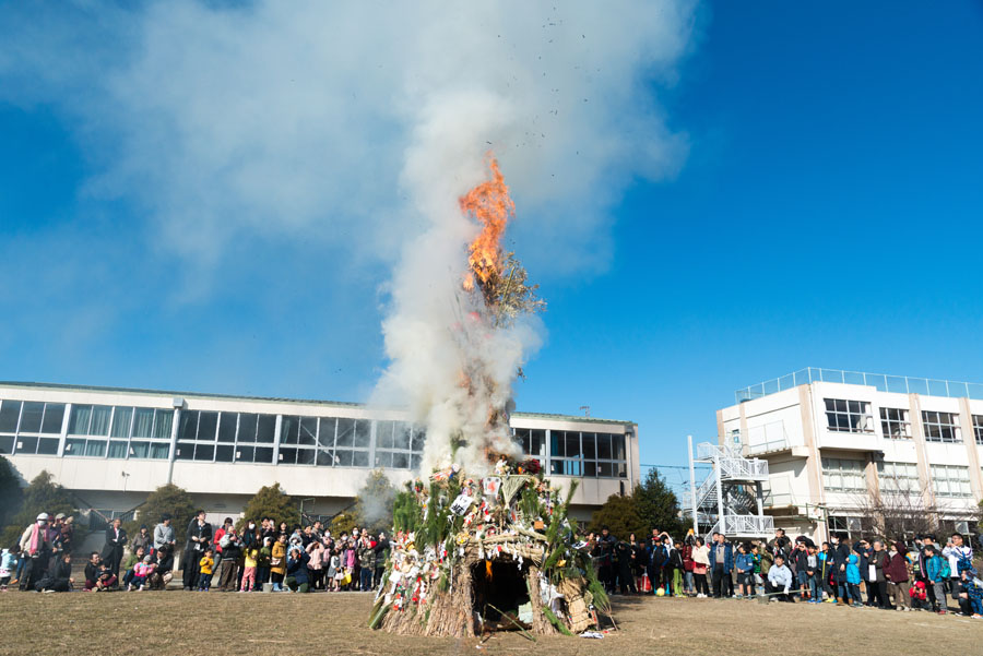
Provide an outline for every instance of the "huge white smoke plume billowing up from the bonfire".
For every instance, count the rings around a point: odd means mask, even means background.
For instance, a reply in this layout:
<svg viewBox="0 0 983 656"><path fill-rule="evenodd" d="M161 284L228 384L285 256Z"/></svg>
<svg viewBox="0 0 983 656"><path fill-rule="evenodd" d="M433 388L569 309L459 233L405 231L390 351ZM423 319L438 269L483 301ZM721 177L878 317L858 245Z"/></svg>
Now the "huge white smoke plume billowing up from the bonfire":
<svg viewBox="0 0 983 656"><path fill-rule="evenodd" d="M455 298L476 228L457 200L485 151L537 246L520 258L560 274L603 261L608 207L685 156L655 95L692 0L120 7L0 9L0 102L52 108L99 171L90 193L135 202L191 264L218 266L244 232L391 264L375 401L426 421L427 465L505 404L538 341L521 323L470 347L502 397L462 402L453 326L473 308Z"/></svg>

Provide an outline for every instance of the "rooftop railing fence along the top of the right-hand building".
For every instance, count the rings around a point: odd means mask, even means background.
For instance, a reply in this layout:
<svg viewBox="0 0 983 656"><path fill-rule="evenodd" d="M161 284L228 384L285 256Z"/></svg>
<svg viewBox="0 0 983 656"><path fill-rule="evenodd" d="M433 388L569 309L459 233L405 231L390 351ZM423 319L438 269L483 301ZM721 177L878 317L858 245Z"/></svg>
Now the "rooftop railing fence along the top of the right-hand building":
<svg viewBox="0 0 983 656"><path fill-rule="evenodd" d="M844 383L848 385L866 385L880 392L899 394L923 394L925 396L948 396L950 398L975 398L983 401L983 384L960 381L938 380L931 378L912 378L910 375L888 375L886 373L867 373L865 371L845 371L843 369L819 369L806 367L793 373L772 380L748 385L735 392L737 403L761 398L784 390L809 383Z"/></svg>

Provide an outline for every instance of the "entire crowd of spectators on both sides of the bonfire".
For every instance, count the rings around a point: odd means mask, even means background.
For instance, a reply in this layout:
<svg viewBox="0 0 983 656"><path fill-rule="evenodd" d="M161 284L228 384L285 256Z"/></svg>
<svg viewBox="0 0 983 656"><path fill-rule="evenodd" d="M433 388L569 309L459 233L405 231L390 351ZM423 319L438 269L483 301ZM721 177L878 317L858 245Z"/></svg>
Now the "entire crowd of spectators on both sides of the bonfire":
<svg viewBox="0 0 983 656"><path fill-rule="evenodd" d="M151 530L141 526L130 539L119 520L105 532L100 551L86 559L76 585L72 572L72 517L37 515L16 545L0 553L0 589L91 592L165 589L176 564L185 591L298 592L376 589L389 556L384 533L355 528L333 536L320 522L288 526L271 517L232 517L213 528L204 511L191 520L180 551L171 517ZM781 528L770 540L732 542L713 534L710 544L690 530L673 539L658 529L639 540L618 540L605 527L581 548L593 556L597 575L611 594L652 594L714 598L839 604L900 611L949 611L983 616L983 581L973 550L959 533L936 541L934 535L902 540L861 539L853 544L833 534L816 545L792 540Z"/></svg>

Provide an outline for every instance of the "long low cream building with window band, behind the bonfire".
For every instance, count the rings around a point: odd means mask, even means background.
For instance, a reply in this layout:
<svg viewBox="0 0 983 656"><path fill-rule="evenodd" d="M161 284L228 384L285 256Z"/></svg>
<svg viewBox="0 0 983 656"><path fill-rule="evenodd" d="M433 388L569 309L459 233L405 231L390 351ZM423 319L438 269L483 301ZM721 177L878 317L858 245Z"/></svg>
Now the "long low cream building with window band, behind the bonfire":
<svg viewBox="0 0 983 656"><path fill-rule="evenodd" d="M554 484L580 481L578 518L639 480L631 421L514 413L510 424ZM410 480L425 440L405 413L358 404L0 383L0 453L24 485L51 473L83 514L127 515L173 482L210 516L237 516L280 482L305 513L327 518L352 505L374 469L396 486Z"/></svg>

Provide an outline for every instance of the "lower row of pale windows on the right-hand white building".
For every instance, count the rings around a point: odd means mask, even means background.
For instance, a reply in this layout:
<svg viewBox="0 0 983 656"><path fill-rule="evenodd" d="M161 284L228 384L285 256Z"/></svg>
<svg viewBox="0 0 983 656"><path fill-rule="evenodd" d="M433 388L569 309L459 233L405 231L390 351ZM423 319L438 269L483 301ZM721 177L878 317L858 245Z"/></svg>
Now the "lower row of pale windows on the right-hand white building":
<svg viewBox="0 0 983 656"><path fill-rule="evenodd" d="M822 485L832 492L866 492L865 463L857 460L824 457ZM921 491L915 463L877 463L880 488L885 492L916 493ZM931 465L932 488L937 497L972 497L969 467Z"/></svg>

